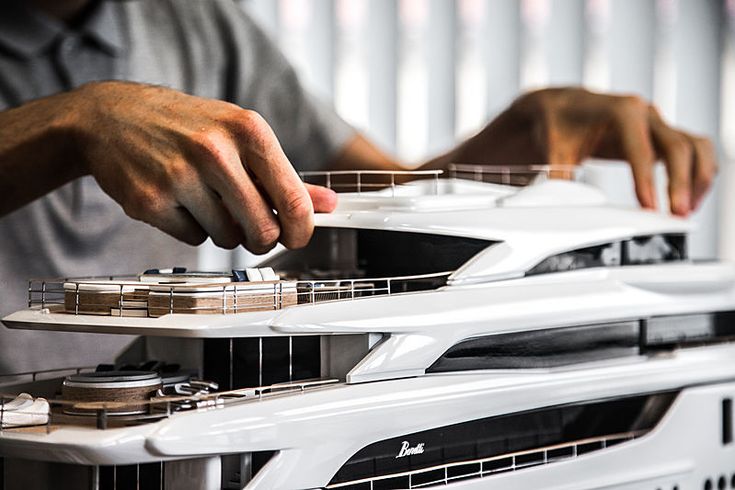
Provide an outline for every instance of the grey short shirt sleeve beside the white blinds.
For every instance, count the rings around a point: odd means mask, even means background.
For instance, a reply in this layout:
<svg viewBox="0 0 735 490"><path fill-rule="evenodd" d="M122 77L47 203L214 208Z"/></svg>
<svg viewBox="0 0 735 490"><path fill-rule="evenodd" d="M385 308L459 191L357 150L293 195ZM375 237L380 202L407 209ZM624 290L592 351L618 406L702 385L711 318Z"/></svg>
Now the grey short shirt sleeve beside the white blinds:
<svg viewBox="0 0 735 490"><path fill-rule="evenodd" d="M297 170L327 169L355 130L307 92L280 49L240 7L220 0L218 9L229 51L228 101L263 116Z"/></svg>

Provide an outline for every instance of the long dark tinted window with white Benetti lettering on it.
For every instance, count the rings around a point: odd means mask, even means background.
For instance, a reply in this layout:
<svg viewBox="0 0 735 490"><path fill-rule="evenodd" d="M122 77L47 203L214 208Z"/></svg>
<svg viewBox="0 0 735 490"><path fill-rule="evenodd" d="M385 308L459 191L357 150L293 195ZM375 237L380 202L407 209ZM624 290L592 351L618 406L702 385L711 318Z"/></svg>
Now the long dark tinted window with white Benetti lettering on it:
<svg viewBox="0 0 735 490"><path fill-rule="evenodd" d="M406 434L358 451L332 478L330 485L606 435L647 431L655 427L674 397L673 393L664 393L543 408ZM598 445L594 449L602 448ZM538 456L543 458L541 454ZM503 460L495 463L502 465ZM376 481L374 488L407 488L405 484L401 486L402 482L391 480L382 480L381 486Z"/></svg>

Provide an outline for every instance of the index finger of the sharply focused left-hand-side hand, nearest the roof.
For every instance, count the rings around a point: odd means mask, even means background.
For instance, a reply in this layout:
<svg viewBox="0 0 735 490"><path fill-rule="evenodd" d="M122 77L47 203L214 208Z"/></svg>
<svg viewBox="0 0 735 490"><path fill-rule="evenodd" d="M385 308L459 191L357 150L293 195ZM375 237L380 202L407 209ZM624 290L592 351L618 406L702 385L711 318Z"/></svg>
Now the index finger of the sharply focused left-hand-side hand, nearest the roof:
<svg viewBox="0 0 735 490"><path fill-rule="evenodd" d="M288 248L305 246L314 231L311 197L283 153L273 130L257 114L246 111L240 121L240 152L278 213L280 241Z"/></svg>

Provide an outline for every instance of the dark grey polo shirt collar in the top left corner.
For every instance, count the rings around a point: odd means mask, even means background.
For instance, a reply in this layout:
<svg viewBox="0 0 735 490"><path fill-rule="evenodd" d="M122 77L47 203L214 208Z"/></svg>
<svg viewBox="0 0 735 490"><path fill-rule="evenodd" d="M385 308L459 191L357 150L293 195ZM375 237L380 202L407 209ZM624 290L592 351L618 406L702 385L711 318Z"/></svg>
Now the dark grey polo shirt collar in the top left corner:
<svg viewBox="0 0 735 490"><path fill-rule="evenodd" d="M120 9L117 2L102 0L72 31L56 19L29 7L24 0L1 1L0 44L28 59L49 49L58 37L76 32L93 39L114 56L125 48Z"/></svg>

